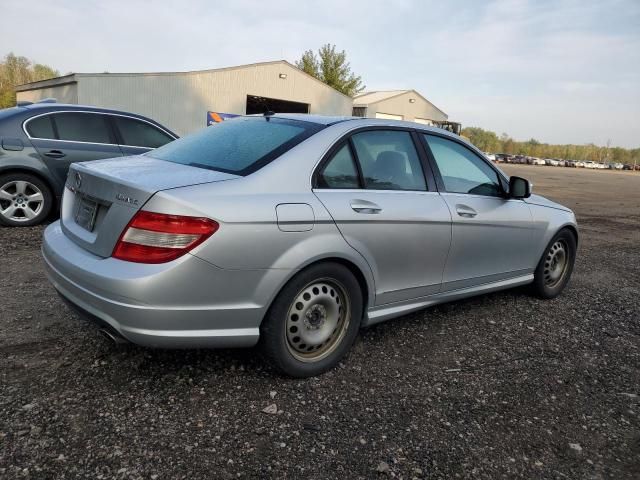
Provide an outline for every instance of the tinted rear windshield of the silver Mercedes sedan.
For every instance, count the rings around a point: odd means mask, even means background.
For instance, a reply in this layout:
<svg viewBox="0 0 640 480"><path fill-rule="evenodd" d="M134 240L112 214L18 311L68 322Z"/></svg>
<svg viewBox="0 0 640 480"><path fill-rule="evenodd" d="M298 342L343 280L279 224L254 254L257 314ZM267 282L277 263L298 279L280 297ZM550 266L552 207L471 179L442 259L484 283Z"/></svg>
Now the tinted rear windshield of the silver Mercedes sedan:
<svg viewBox="0 0 640 480"><path fill-rule="evenodd" d="M237 117L187 135L149 155L194 167L249 175L323 128L275 117Z"/></svg>

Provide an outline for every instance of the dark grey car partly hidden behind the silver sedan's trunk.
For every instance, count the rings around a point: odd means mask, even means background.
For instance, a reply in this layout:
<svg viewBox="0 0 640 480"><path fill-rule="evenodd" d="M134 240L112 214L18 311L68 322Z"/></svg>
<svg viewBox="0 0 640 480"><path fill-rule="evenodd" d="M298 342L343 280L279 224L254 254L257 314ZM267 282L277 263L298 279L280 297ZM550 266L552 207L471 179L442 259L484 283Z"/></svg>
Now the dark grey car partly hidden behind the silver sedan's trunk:
<svg viewBox="0 0 640 480"><path fill-rule="evenodd" d="M133 113L53 102L0 110L0 223L31 226L57 208L69 165L148 152L177 138Z"/></svg>

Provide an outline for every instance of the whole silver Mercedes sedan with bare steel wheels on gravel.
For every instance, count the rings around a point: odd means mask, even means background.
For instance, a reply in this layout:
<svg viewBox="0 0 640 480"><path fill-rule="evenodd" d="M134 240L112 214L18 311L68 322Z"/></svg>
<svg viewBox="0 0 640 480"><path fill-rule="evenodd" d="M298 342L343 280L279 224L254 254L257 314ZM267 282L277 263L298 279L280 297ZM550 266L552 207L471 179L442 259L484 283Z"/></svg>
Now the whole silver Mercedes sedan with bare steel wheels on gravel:
<svg viewBox="0 0 640 480"><path fill-rule="evenodd" d="M577 242L571 210L458 136L265 115L74 164L42 250L61 296L114 339L259 343L305 377L360 328L429 305L525 284L553 298Z"/></svg>

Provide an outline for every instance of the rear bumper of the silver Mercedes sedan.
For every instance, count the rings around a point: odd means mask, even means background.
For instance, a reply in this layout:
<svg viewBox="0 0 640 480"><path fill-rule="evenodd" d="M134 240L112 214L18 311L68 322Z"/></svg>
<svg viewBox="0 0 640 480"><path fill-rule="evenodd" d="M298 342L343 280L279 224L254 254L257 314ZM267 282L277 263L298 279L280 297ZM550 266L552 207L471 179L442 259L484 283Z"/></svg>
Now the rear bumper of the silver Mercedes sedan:
<svg viewBox="0 0 640 480"><path fill-rule="evenodd" d="M159 265L101 258L66 237L59 222L45 230L42 254L47 277L76 310L132 343L161 348L255 345L287 275L224 270L189 254Z"/></svg>

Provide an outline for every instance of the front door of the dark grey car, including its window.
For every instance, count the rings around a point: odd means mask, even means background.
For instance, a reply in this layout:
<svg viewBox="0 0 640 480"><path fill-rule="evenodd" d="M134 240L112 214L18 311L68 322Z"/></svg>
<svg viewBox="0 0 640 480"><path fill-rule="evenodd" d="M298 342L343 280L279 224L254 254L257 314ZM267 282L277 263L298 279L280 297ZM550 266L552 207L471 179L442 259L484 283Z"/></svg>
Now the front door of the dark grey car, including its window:
<svg viewBox="0 0 640 480"><path fill-rule="evenodd" d="M125 155L138 155L161 147L175 137L158 126L139 118L110 115L120 148Z"/></svg>

